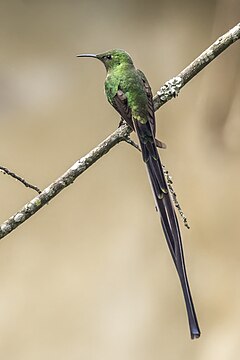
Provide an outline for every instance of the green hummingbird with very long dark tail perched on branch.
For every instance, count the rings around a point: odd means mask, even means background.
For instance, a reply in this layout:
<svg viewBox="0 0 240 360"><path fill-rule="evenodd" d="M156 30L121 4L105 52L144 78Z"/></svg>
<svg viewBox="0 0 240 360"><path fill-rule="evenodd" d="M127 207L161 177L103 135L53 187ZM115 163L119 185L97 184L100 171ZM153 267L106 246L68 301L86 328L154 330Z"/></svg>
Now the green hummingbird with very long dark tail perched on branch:
<svg viewBox="0 0 240 360"><path fill-rule="evenodd" d="M148 80L142 71L135 68L131 57L124 50L77 56L92 57L104 64L107 70L107 99L120 114L122 121L125 120L137 133L156 208L182 286L191 338L198 338L200 329L187 279L180 229L157 150L157 147L164 148L165 145L155 138L153 96Z"/></svg>

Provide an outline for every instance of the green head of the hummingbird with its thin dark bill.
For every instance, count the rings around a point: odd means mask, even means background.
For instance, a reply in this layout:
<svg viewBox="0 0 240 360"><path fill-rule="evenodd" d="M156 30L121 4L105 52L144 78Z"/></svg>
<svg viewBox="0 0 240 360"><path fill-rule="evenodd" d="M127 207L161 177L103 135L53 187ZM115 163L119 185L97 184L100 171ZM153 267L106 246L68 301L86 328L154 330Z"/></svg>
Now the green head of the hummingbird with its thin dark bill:
<svg viewBox="0 0 240 360"><path fill-rule="evenodd" d="M114 70L119 65L130 65L133 66L132 59L130 55L119 49L109 50L101 54L80 54L77 57L92 57L100 60L107 71Z"/></svg>

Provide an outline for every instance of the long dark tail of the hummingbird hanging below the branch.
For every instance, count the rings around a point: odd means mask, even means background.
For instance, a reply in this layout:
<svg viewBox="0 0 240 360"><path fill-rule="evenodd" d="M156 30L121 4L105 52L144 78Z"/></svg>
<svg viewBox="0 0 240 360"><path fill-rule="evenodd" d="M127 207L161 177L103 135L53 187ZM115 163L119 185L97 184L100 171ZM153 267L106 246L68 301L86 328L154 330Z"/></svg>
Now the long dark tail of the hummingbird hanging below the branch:
<svg viewBox="0 0 240 360"><path fill-rule="evenodd" d="M160 213L163 231L182 286L191 338L196 339L201 333L188 283L181 234L156 148L154 134L149 121L141 123L140 121L134 120L134 128L139 138L143 161L147 166L148 176L156 206Z"/></svg>

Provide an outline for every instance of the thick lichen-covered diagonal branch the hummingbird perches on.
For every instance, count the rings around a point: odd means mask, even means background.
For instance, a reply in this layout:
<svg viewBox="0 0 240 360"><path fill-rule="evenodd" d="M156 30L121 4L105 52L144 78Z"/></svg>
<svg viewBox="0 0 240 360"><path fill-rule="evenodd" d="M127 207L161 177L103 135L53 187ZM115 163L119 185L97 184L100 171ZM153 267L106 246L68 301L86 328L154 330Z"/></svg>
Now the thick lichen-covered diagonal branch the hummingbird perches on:
<svg viewBox="0 0 240 360"><path fill-rule="evenodd" d="M226 50L231 44L240 38L240 23L218 38L207 50L198 56L190 65L181 71L176 77L167 81L154 96L154 108L158 110L167 101L177 96L180 89L196 76L205 66L213 61L218 55ZM91 150L87 155L79 159L68 169L65 174L50 184L42 193L28 202L21 210L11 216L0 226L0 239L8 235L20 224L29 219L44 205L49 203L60 191L72 184L74 180L93 165L111 148L121 141L129 143L131 129L127 125L121 125L116 131L108 136L101 144Z"/></svg>

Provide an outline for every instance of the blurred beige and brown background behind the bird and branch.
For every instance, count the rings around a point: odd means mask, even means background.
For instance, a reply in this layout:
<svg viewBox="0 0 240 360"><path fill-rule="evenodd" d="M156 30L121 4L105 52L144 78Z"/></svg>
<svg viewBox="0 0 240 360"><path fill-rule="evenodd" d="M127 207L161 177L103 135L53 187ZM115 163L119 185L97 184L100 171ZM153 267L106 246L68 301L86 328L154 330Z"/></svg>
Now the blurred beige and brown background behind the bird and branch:
<svg viewBox="0 0 240 360"><path fill-rule="evenodd" d="M43 189L116 129L104 67L76 54L123 48L156 93L239 15L237 0L0 0L0 164ZM122 143L1 241L2 359L240 356L239 70L237 42L157 112L202 337L141 156ZM35 193L0 184L3 222Z"/></svg>

